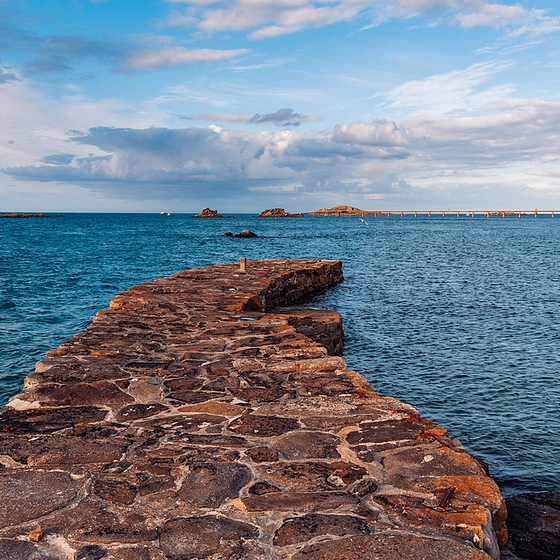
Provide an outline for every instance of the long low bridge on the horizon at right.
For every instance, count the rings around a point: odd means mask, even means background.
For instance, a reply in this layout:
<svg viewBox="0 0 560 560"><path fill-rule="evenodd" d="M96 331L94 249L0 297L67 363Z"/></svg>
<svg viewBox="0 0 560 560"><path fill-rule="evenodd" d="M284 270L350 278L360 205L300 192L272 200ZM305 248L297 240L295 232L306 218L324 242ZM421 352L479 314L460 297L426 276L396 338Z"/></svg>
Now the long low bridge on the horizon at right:
<svg viewBox="0 0 560 560"><path fill-rule="evenodd" d="M338 210L338 209L322 209L316 210L315 212L305 212L308 216L386 216L390 218L391 216L404 216L413 215L415 218L419 214L423 214L428 218L432 216L445 216L455 215L457 218L465 216L467 218L474 218L475 215L486 216L487 218L498 216L505 218L506 216L514 216L521 218L521 216L534 216L537 218L539 214L550 215L554 218L555 213L560 213L560 210L360 210L358 208L352 208L351 210Z"/></svg>

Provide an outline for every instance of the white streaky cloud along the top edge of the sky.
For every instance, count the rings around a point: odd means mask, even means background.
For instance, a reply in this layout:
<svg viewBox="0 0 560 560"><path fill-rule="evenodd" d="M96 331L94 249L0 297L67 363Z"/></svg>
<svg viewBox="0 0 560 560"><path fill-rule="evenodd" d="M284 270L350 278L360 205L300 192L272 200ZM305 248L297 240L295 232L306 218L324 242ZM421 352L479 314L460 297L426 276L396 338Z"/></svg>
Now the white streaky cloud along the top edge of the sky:
<svg viewBox="0 0 560 560"><path fill-rule="evenodd" d="M545 10L528 10L521 4L487 0L233 0L173 2L188 4L184 13L174 10L167 24L200 31L248 32L251 39L267 39L303 29L367 17L368 29L390 18L444 14L462 27L506 27L517 33L544 34L558 31L560 18ZM445 20L443 20L445 21Z"/></svg>

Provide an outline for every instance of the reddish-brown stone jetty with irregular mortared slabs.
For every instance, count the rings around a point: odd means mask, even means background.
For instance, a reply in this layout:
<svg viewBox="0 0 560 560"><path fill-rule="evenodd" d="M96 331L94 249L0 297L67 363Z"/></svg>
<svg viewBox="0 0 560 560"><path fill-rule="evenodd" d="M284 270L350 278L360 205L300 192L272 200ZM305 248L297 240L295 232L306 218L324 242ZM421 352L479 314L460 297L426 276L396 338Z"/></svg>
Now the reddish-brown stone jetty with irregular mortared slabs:
<svg viewBox="0 0 560 560"><path fill-rule="evenodd" d="M479 463L333 355L337 312L282 307L341 263L243 264L131 288L37 363L0 411L0 558L497 560Z"/></svg>

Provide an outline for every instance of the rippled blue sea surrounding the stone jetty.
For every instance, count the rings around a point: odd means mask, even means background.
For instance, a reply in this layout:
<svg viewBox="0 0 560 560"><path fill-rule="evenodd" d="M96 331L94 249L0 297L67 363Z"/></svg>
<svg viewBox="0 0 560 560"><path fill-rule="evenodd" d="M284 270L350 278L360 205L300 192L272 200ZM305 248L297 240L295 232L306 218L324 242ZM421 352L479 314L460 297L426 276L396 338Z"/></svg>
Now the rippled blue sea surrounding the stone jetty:
<svg viewBox="0 0 560 560"><path fill-rule="evenodd" d="M550 216L0 219L0 404L117 293L262 258L343 261L311 305L337 309L344 358L490 464L504 493L560 490L560 219ZM223 237L256 232L256 239Z"/></svg>

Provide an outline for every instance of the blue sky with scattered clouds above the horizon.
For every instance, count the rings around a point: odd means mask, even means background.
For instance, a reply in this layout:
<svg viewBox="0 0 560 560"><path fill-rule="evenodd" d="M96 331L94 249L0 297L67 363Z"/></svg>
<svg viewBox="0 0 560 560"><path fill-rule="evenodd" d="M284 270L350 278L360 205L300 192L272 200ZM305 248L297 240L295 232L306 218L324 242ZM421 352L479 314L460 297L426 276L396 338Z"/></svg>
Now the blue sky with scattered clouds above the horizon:
<svg viewBox="0 0 560 560"><path fill-rule="evenodd" d="M558 0L0 0L0 212L560 208Z"/></svg>

